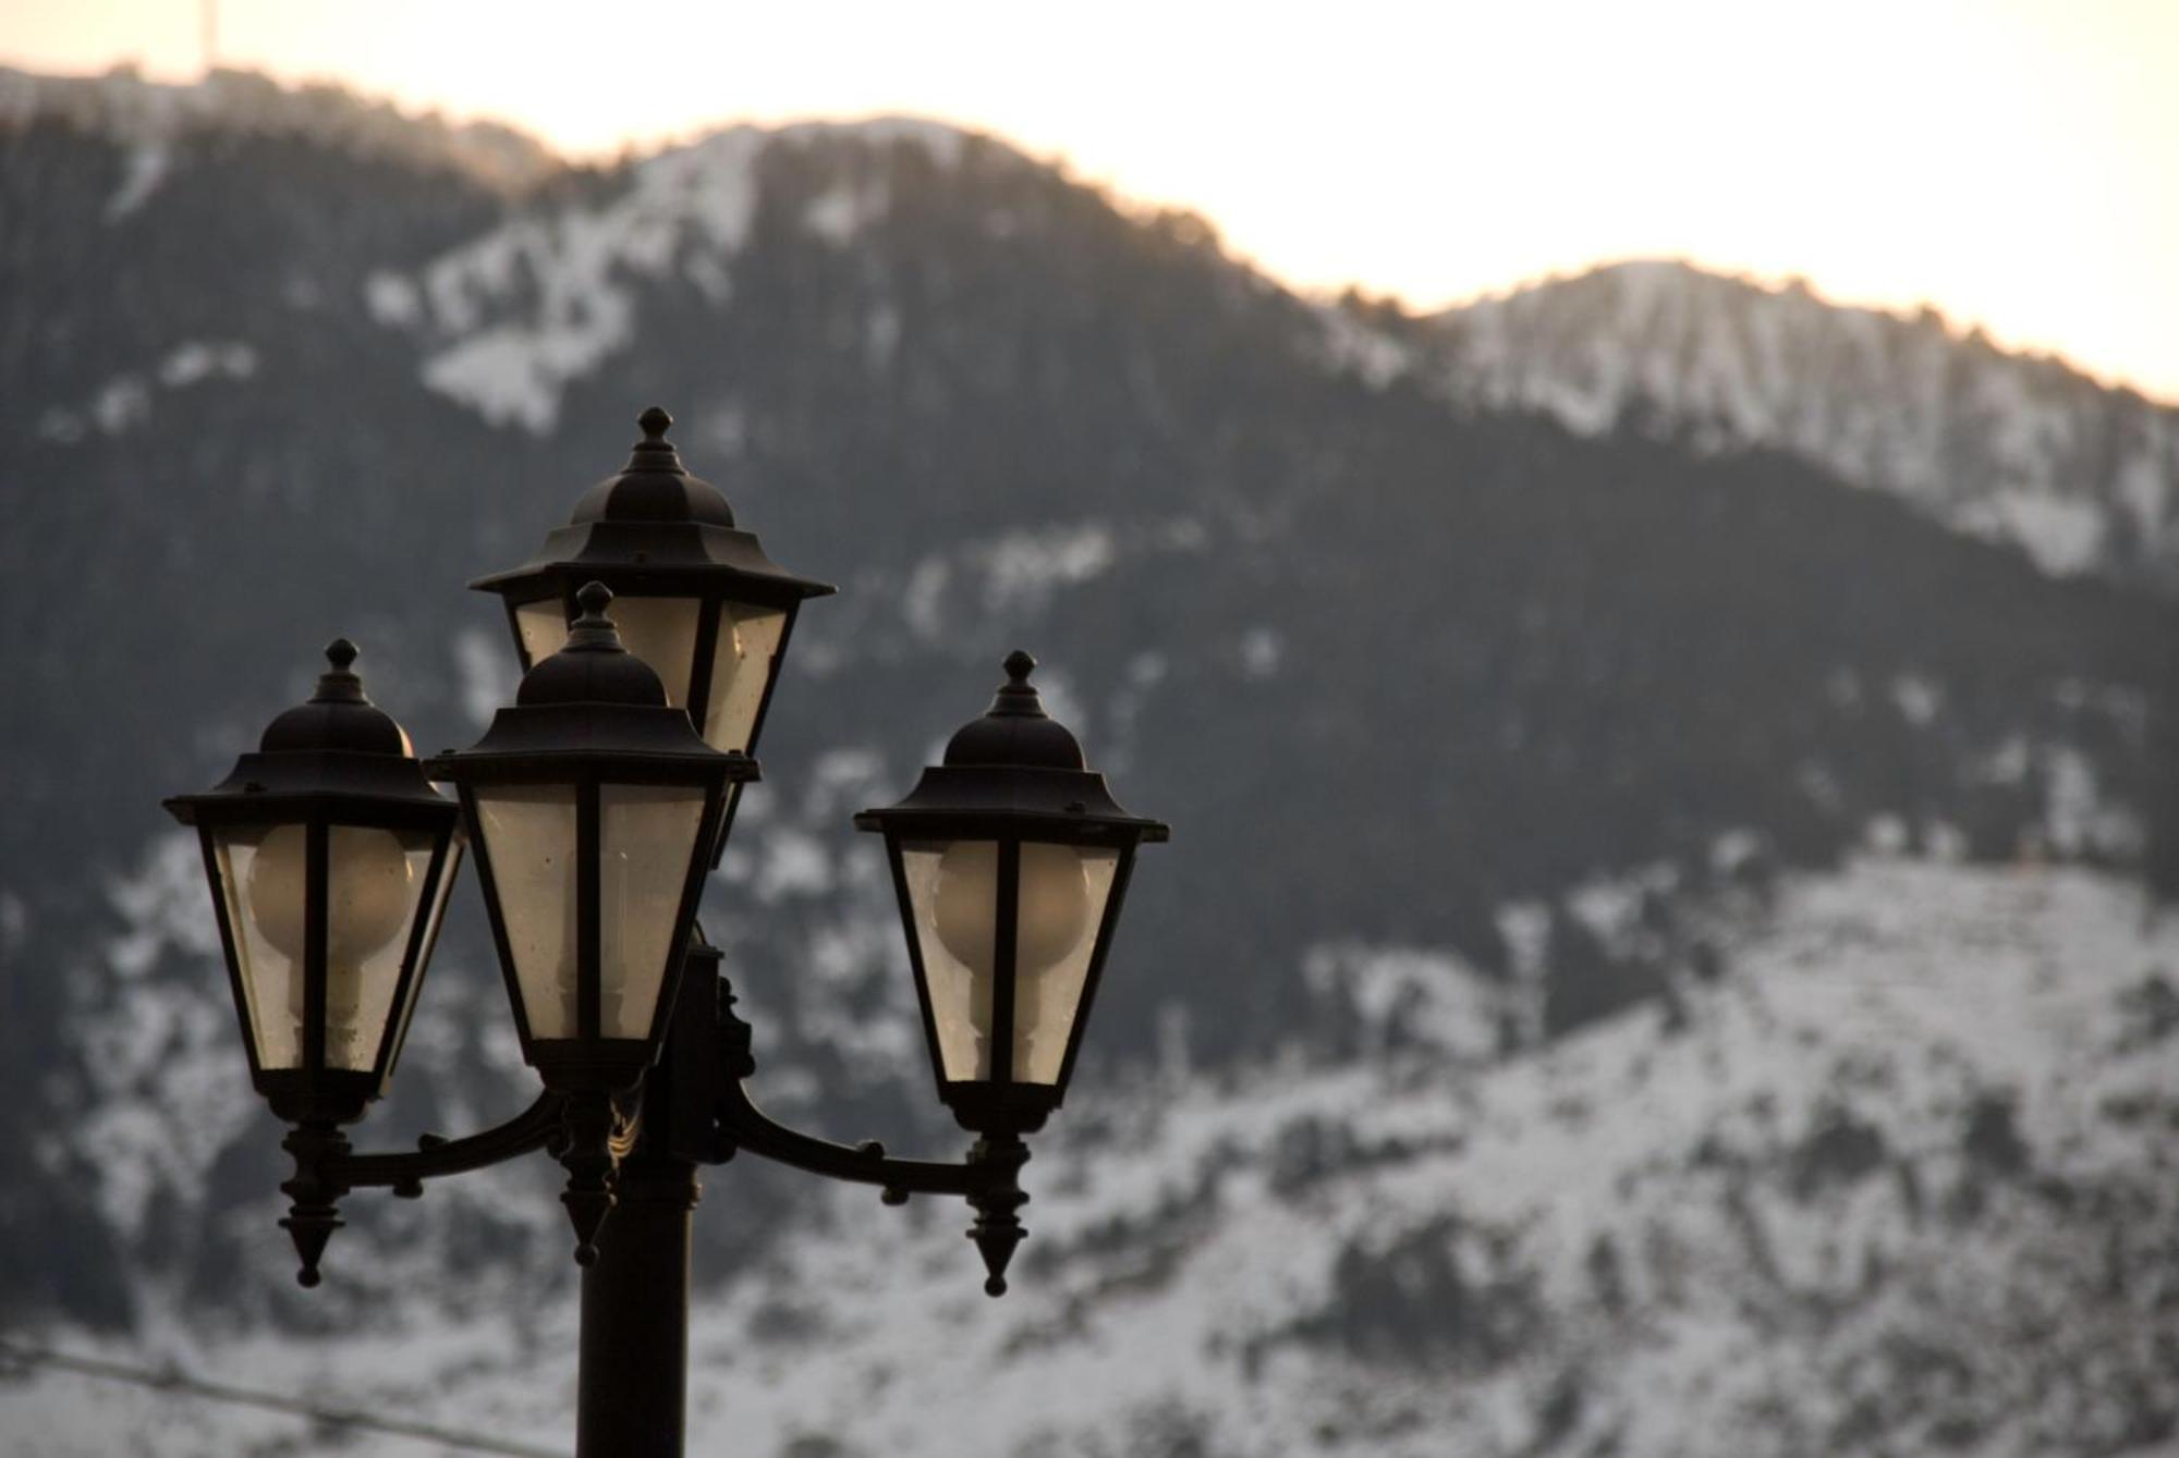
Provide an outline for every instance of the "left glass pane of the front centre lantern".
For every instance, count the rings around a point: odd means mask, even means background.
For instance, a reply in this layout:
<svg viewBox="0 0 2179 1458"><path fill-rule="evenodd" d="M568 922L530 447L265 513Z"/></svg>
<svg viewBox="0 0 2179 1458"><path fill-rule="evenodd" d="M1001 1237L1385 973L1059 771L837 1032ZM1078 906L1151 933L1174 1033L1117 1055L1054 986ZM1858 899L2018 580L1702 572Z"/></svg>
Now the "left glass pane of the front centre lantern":
<svg viewBox="0 0 2179 1458"><path fill-rule="evenodd" d="M575 786L479 786L477 825L532 1038L575 1036Z"/></svg>

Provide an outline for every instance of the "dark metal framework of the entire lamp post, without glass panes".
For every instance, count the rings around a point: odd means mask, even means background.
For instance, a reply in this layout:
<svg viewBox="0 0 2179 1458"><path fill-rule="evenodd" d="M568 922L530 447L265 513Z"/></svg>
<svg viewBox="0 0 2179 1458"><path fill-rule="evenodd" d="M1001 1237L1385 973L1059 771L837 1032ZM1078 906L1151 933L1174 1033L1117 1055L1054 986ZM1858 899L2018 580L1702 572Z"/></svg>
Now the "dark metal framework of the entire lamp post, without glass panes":
<svg viewBox="0 0 2179 1458"><path fill-rule="evenodd" d="M832 592L824 583L798 579L763 555L756 538L734 529L726 501L699 479L686 474L678 455L665 442L671 418L649 409L641 418L645 440L638 442L630 468L601 481L577 505L573 520L556 531L543 557L525 568L479 579L475 588L501 594L525 677L516 703L501 709L490 731L468 751L449 751L421 764L407 738L392 720L377 716L399 736L397 764L407 779L392 792L384 764L357 764L357 755L314 753L307 759L279 759L268 731L259 755L244 755L235 773L216 790L198 796L176 796L168 807L176 818L196 825L205 844L205 866L220 916L222 951L229 960L229 981L238 1014L244 1021L244 1045L253 1079L275 1101L275 1112L296 1114L283 1138L294 1160L294 1173L281 1184L290 1197L281 1225L299 1256L296 1280L320 1282L320 1258L329 1236L342 1225L340 1201L357 1188L386 1188L397 1197L423 1195L425 1182L501 1164L547 1149L569 1171L562 1201L575 1223L575 1258L586 1267L582 1277L582 1349L577 1384L577 1458L678 1458L682 1454L689 1360L689 1216L697 1201L695 1169L723 1164L737 1153L750 1153L808 1173L876 1186L885 1203L904 1203L911 1195L954 1195L976 1212L970 1227L985 1262L985 1290L1007 1290L1007 1264L1024 1230L1018 1219L1028 1195L1020 1171L1028 1160L1022 1134L1035 1129L1059 1105L1098 981L1111 949L1113 929L1127 897L1133 853L1140 844L1164 840L1157 820L1131 816L1111 801L1100 775L1085 770L1081 751L1066 729L1052 725L1042 707L1033 707L1035 690L1026 688L1033 666L1028 655L1009 659L1013 683L1000 690L994 712L972 722L948 751L946 766L924 773L915 790L898 805L856 816L863 829L885 833L893 864L896 892L906 907L906 886L900 866L902 838L996 838L1011 847L1005 862L1015 864L1020 844L1057 842L1113 849L1118 864L1098 918L1096 944L1083 979L1083 992L1068 1029L1068 1047L1057 1082L1037 1097L1007 1092L1007 1086L976 1090L948 1086L944 1058L930 1014L930 997L922 968L922 947L913 918L909 955L917 979L924 1036L939 1077L939 1097L957 1119L981 1136L959 1162L900 1160L876 1140L837 1145L767 1116L745 1082L756 1071L754 1034L734 1014L734 994L719 973L719 951L710 947L695 910L702 897L704 870L723 849L726 829L739 788L758 777L758 766L745 753L754 749L771 694L784 662L787 642L800 603ZM582 583L577 588L577 583ZM540 590L543 588L543 590ZM619 638L606 616L612 590L634 596L697 596L704 605L697 659L691 664L689 699L708 707L704 675L717 657L717 625L723 603L750 603L784 614L780 640L767 664L765 688L750 729L750 746L723 753L702 740L702 707L667 707L665 688L634 655L619 651ZM519 607L560 598L571 616L569 640L560 653L532 664L523 646ZM580 616L577 616L580 614ZM610 648L608 648L610 644ZM342 644L344 646L344 644ZM353 657L353 648L349 648ZM344 664L336 664L344 672ZM333 675L329 675L331 681ZM353 679L351 679L353 681ZM336 685L336 696L346 696ZM362 694L355 690L355 699ZM309 712L318 712L305 705ZM1031 712L1033 707L1033 712ZM290 716L305 709L292 709ZM283 722L288 716L283 716ZM1057 738L1055 738L1057 736ZM384 751L384 742L377 744ZM961 751L961 753L954 753ZM1039 757L1057 759L1044 764ZM1072 755L1068 759L1068 755ZM388 755L379 755L388 759ZM440 796L425 773L455 783L458 801ZM665 966L649 1038L593 1038L582 1049L549 1047L551 1038L534 1038L523 999L516 960L512 955L508 907L495 884L488 836L479 818L477 792L499 783L573 786L577 796L577 920L586 934L577 938L586 966L577 968L580 1027L601 1027L599 1003L599 788L604 783L702 783L704 810L697 823L689 879L682 886L673 931L673 955ZM588 810L584 810L584 805ZM327 1103L307 1090L292 1088L257 1064L255 1027L248 1023L246 988L240 981L235 929L229 927L222 873L214 853L214 831L235 823L266 823L266 807L281 816L318 825L316 853L309 866L318 873L316 947L322 962L325 940L325 833L322 825L418 825L440 827L434 842L427 899L414 912L410 944L401 968L390 1031L381 1045L381 1062L373 1071L368 1095L342 1088ZM373 820L355 816L370 814ZM316 816L316 818L312 818ZM525 1060L547 1079L545 1092L521 1114L466 1138L423 1136L414 1151L355 1151L340 1127L362 1114L364 1103L384 1090L416 990L425 975L438 914L458 868L460 823L466 823L477 851L477 877L486 888L495 953L508 981L516 1031ZM588 829L584 829L588 827ZM708 842L708 844L706 844ZM710 851L706 855L704 851ZM434 901L436 899L436 901ZM1011 918L1011 905L1005 914ZM429 923L429 929L427 929ZM1013 957L1009 925L1007 955ZM996 968L994 968L996 971ZM320 977L322 981L322 977ZM1009 968L1011 981L1011 968ZM322 986L314 1016L322 1045ZM1011 1018L1009 1018L1011 1023ZM582 1045L582 1038L573 1042ZM630 1047L601 1049L623 1042ZM318 1051L322 1062L322 1047ZM954 1082L959 1084L959 1082ZM357 1099L357 1095L362 1095ZM357 1099L353 1112L342 1099ZM612 1212L612 1223L604 1225ZM604 1230L601 1230L604 1227ZM604 1238L601 1238L604 1234Z"/></svg>

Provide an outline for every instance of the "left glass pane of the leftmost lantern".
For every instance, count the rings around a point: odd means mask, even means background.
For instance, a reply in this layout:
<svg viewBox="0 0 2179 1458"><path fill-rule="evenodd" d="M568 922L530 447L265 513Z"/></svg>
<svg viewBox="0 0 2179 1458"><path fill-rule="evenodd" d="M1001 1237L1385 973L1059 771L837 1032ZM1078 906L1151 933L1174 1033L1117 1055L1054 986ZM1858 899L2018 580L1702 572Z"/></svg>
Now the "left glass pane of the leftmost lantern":
<svg viewBox="0 0 2179 1458"><path fill-rule="evenodd" d="M301 825L229 825L214 833L242 1010L259 1068L303 1066Z"/></svg>

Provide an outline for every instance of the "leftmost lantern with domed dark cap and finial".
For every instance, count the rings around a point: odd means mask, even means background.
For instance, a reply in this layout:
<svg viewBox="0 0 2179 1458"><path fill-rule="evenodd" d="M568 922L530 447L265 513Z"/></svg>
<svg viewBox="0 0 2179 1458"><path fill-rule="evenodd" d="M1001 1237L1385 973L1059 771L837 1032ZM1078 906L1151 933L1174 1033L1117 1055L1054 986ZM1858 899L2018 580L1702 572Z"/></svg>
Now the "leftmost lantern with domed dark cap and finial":
<svg viewBox="0 0 2179 1458"><path fill-rule="evenodd" d="M353 672L203 794L166 807L205 851L251 1082L288 1123L353 1123L392 1077L438 938L460 844L455 805Z"/></svg>

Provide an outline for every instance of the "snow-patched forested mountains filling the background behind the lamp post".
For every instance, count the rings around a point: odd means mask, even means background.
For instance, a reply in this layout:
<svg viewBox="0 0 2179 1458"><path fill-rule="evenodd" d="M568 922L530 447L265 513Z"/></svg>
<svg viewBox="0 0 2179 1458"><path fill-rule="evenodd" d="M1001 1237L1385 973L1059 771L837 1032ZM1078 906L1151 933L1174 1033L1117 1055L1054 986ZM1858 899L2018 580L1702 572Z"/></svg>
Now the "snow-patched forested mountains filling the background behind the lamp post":
<svg viewBox="0 0 2179 1458"><path fill-rule="evenodd" d="M2170 1443L2179 609L2146 544L2179 477L2120 448L2166 416L1678 268L1325 309L920 122L510 172L257 78L0 83L0 300L33 300L0 305L0 1338L564 1447L543 1162L353 1199L294 1288L157 799L333 633L418 744L473 738L512 675L458 583L662 400L845 588L706 901L769 1108L959 1142L845 818L1007 648L1177 827L1007 1301L959 1210L734 1162L697 1219L702 1441ZM1950 394L1815 392L1854 350ZM2020 494L2094 509L2101 555L1987 542ZM464 888L366 1145L527 1101L477 920ZM11 1454L333 1441L0 1371Z"/></svg>

